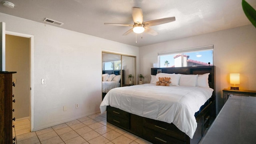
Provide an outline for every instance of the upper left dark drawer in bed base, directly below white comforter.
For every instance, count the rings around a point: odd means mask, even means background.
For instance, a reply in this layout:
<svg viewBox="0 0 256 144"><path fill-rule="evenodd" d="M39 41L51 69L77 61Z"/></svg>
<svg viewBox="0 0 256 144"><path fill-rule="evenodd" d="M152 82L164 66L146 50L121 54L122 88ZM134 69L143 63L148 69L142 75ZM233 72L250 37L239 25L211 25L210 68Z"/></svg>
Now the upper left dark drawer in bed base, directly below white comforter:
<svg viewBox="0 0 256 144"><path fill-rule="evenodd" d="M130 120L130 113L111 106L107 107L107 114L118 116L120 118L123 118L124 120Z"/></svg>

